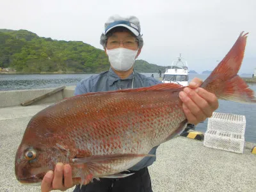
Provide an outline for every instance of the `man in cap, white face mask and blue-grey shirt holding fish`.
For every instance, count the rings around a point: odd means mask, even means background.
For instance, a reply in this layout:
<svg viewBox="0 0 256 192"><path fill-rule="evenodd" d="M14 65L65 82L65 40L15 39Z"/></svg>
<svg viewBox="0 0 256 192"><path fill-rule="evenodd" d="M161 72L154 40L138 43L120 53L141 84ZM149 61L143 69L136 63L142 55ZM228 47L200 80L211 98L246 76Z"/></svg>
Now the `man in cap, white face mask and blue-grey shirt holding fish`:
<svg viewBox="0 0 256 192"><path fill-rule="evenodd" d="M100 37L100 44L109 57L111 67L108 71L91 76L77 84L75 95L88 92L106 92L126 88L140 88L161 83L153 77L146 77L134 71L135 59L140 55L143 38L139 20L132 17L112 16L105 24L105 31ZM198 88L202 81L194 79L179 93L183 109L190 124L198 124L212 115L218 108L218 100L212 93ZM152 148L150 154L156 154ZM129 171L134 173L122 179L100 179L86 186L76 186L74 191L152 191L147 167L156 161L156 157L145 157ZM49 171L42 181L42 192L51 189L65 190L71 188L72 173L68 164L58 163L54 172Z"/></svg>

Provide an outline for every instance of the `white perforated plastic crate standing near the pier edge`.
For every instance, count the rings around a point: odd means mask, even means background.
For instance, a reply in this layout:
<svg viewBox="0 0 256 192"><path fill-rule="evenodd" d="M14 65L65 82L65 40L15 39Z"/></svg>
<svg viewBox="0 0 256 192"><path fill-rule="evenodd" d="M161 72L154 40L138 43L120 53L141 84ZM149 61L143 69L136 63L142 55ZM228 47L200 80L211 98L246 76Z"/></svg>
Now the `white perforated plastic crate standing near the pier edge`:
<svg viewBox="0 0 256 192"><path fill-rule="evenodd" d="M243 154L245 125L244 115L214 112L208 119L204 146Z"/></svg>

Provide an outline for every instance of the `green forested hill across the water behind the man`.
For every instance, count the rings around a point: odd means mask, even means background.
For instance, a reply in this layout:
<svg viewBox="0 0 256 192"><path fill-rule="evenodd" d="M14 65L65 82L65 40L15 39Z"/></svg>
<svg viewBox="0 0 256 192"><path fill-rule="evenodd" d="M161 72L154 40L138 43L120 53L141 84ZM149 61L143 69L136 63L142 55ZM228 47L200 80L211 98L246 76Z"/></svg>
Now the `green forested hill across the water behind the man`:
<svg viewBox="0 0 256 192"><path fill-rule="evenodd" d="M0 29L0 67L17 72L99 73L109 69L105 52L83 42L52 40L27 30ZM164 71L165 67L136 61L139 72Z"/></svg>

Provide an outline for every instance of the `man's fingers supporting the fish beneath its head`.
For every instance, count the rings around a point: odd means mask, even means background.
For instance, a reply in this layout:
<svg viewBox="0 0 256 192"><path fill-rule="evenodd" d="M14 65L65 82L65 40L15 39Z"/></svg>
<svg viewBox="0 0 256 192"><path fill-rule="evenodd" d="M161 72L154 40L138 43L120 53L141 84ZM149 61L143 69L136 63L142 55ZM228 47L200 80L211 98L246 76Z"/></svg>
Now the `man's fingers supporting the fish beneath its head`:
<svg viewBox="0 0 256 192"><path fill-rule="evenodd" d="M72 188L72 186L74 185L71 166L69 164L57 163L54 172L49 171L45 174L41 184L41 191L49 192L55 189L65 191L68 188Z"/></svg>

